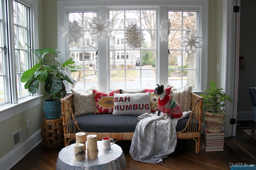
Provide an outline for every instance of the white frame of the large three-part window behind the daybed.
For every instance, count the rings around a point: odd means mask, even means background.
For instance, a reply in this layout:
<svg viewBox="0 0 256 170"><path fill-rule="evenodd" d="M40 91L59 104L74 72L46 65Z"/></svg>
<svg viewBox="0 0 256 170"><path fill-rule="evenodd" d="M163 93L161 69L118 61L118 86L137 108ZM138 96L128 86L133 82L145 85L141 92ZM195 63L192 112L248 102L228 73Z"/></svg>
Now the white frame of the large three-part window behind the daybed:
<svg viewBox="0 0 256 170"><path fill-rule="evenodd" d="M131 4L133 4L131 6ZM198 10L199 11L199 35L203 37L203 48L200 49L200 57L198 61L198 91L204 91L207 88L207 74L208 74L208 0L163 0L163 1L57 1L57 27L58 27L58 49L64 54L61 57L61 62L67 59L67 41L61 38L62 32L59 29L63 27L66 22L66 13L68 11L98 11L97 16L108 16L109 10L114 9L157 9L158 23L156 34L159 35L160 24L159 21L167 18L168 10ZM156 83L166 85L168 83L168 42L161 42L161 37L157 36L156 42ZM109 38L98 39L98 87L100 91L109 91L109 72L110 72L110 58L106 57L108 54ZM164 57L166 56L166 57ZM203 57L201 57L203 56ZM161 67L160 67L161 66ZM101 71L103 70L103 71ZM107 70L107 71L106 71ZM160 74L161 73L161 74ZM70 91L68 84L67 90ZM196 91L197 91L196 90Z"/></svg>

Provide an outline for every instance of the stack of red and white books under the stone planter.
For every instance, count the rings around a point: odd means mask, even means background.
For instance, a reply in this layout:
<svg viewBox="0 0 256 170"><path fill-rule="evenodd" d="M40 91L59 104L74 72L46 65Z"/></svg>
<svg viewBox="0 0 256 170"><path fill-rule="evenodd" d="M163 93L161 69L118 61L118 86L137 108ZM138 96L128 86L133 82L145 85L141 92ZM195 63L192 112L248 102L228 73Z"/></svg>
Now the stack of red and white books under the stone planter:
<svg viewBox="0 0 256 170"><path fill-rule="evenodd" d="M203 130L202 147L206 152L223 151L224 148L224 132L213 133Z"/></svg>

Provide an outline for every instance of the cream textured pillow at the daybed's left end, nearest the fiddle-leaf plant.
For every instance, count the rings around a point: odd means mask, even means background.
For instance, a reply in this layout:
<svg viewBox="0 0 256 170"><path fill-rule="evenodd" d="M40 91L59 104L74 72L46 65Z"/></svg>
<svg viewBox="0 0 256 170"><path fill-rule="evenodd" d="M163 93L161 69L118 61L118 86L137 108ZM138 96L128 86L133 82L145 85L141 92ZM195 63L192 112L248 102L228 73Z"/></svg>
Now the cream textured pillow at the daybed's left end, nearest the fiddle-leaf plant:
<svg viewBox="0 0 256 170"><path fill-rule="evenodd" d="M94 86L90 87L84 93L78 90L71 89L73 93L73 103L74 103L74 115L78 116L81 114L94 113L96 108L94 96L92 90L95 90Z"/></svg>

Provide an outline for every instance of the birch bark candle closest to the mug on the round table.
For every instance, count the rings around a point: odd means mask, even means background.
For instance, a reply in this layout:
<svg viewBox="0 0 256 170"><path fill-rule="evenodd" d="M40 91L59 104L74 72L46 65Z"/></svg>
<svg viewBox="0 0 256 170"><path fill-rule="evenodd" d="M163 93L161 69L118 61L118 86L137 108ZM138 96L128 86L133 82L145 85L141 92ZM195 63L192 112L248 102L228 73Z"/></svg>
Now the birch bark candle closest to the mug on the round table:
<svg viewBox="0 0 256 170"><path fill-rule="evenodd" d="M98 158L97 135L87 135L87 158Z"/></svg>

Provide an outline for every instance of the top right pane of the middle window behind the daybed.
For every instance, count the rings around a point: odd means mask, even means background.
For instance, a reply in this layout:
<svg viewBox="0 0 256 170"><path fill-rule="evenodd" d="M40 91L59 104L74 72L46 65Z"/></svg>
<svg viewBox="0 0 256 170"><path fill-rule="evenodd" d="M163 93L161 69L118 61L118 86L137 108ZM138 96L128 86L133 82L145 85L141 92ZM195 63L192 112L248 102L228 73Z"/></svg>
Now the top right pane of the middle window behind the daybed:
<svg viewBox="0 0 256 170"><path fill-rule="evenodd" d="M141 29L155 29L156 28L156 11L141 11Z"/></svg>

